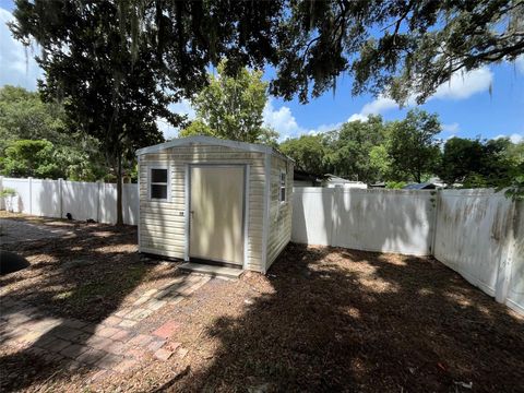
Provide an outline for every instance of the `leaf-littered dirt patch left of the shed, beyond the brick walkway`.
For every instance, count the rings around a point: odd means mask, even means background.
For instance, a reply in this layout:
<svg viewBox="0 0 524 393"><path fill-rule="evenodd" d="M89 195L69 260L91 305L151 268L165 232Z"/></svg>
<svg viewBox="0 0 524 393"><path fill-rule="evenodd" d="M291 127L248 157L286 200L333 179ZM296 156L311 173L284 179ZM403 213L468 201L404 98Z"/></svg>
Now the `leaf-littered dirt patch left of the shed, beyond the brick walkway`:
<svg viewBox="0 0 524 393"><path fill-rule="evenodd" d="M9 217L12 219L11 217ZM122 303L172 277L178 263L147 264L136 253L136 229L78 222L27 219L72 235L3 245L31 266L0 277L0 296L28 301L60 317L104 319Z"/></svg>

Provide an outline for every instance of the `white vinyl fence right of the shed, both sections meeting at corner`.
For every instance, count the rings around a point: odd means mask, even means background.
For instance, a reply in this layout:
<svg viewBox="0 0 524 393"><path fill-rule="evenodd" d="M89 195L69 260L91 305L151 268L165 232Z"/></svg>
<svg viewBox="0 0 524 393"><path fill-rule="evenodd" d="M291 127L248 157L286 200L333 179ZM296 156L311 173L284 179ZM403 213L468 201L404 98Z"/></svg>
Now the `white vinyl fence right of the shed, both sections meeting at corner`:
<svg viewBox="0 0 524 393"><path fill-rule="evenodd" d="M524 313L524 203L502 192L296 188L291 240L434 255Z"/></svg>

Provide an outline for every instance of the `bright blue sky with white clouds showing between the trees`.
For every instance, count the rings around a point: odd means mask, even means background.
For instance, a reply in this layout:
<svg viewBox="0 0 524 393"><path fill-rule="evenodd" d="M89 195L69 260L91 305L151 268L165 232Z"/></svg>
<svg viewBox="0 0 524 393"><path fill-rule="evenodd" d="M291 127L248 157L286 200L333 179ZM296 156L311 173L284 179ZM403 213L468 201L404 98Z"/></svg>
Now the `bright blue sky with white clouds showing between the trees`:
<svg viewBox="0 0 524 393"><path fill-rule="evenodd" d="M0 86L11 84L34 91L37 79L43 78L33 59L37 49L24 49L12 38L5 26L13 19L12 9L11 0L0 0ZM264 79L270 80L274 70L267 69ZM345 121L365 120L368 115L381 115L384 120L402 119L409 109L400 109L383 96L353 97L350 86L350 76L341 75L334 94L326 92L311 98L307 105L296 98L285 102L270 97L263 112L264 124L275 129L281 140L285 140L330 131ZM439 115L442 123L439 136L444 140L509 136L513 142L521 142L524 140L524 56L513 63L502 62L457 73L420 107ZM194 118L188 100L174 104L170 109ZM177 135L177 130L167 122L158 119L157 123L166 139Z"/></svg>

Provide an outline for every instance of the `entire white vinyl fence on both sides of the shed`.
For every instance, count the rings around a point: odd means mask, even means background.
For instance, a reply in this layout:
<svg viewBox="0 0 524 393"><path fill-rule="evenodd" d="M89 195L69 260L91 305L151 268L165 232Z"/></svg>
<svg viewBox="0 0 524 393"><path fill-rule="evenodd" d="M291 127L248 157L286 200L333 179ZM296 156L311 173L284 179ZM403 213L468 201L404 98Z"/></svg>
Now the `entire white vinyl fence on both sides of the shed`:
<svg viewBox="0 0 524 393"><path fill-rule="evenodd" d="M116 184L0 177L16 212L117 219ZM136 225L136 184L123 184L123 221ZM0 209L4 206L0 205ZM434 255L524 313L524 202L491 190L295 188L291 240L357 250Z"/></svg>

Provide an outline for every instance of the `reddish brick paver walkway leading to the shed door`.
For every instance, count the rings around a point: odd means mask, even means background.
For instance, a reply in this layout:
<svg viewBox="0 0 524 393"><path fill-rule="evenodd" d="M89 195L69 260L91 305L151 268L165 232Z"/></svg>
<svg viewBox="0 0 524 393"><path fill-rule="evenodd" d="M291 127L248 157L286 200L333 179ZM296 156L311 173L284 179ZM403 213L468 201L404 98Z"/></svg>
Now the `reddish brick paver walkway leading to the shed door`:
<svg viewBox="0 0 524 393"><path fill-rule="evenodd" d="M176 305L210 281L207 276L179 276L157 289L142 294L132 307L120 309L102 323L46 315L25 302L0 300L0 345L13 346L63 361L70 369L90 367L98 370L94 378L123 372L138 365L144 355L167 360L187 349L166 343L178 327L167 321L141 332L134 326L156 310Z"/></svg>

